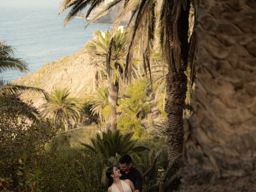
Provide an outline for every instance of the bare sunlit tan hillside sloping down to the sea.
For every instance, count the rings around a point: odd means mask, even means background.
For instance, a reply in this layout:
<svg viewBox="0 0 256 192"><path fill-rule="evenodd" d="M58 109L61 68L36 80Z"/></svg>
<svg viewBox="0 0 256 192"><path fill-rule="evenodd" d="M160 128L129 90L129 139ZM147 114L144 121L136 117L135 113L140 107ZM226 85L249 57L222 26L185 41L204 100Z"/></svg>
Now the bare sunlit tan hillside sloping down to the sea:
<svg viewBox="0 0 256 192"><path fill-rule="evenodd" d="M83 48L71 56L64 56L52 63L46 63L40 70L18 78L14 83L38 87L48 93L56 88L68 88L70 96L85 98L92 90L93 80L92 66L88 63L89 56ZM36 107L44 104L41 94L24 94L23 98L24 100L32 99Z"/></svg>

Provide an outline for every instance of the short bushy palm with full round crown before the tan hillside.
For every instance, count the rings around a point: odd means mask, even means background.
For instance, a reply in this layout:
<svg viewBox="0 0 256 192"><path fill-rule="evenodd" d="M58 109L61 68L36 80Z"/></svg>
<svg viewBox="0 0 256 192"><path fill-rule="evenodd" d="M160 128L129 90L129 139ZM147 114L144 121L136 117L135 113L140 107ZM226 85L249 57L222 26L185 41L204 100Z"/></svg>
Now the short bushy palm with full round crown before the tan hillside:
<svg viewBox="0 0 256 192"><path fill-rule="evenodd" d="M44 114L52 118L52 123L56 125L58 122L64 123L65 131L68 125L77 123L80 118L82 109L78 106L77 98L69 97L70 92L66 88L63 90L56 89L50 95L50 101L44 106Z"/></svg>

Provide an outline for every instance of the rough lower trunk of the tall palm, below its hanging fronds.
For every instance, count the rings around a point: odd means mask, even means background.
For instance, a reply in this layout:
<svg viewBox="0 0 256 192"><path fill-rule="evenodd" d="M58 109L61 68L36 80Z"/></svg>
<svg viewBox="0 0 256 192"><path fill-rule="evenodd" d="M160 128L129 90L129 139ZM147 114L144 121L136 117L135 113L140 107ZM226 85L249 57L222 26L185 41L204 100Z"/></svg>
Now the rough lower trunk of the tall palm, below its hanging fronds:
<svg viewBox="0 0 256 192"><path fill-rule="evenodd" d="M182 155L184 128L183 109L187 91L187 76L184 72L168 73L166 75L166 98L165 111L168 114L167 145L169 161Z"/></svg>

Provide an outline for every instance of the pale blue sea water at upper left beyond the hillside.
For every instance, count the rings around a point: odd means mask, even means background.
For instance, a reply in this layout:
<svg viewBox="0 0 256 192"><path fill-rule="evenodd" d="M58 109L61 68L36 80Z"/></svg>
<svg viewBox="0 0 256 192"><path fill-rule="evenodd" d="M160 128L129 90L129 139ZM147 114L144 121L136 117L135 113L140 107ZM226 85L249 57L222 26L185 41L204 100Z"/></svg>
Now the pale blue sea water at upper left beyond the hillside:
<svg viewBox="0 0 256 192"><path fill-rule="evenodd" d="M67 12L58 16L61 3L62 0L0 0L0 41L16 48L14 56L25 60L30 72L73 54L93 38L95 30L112 26L90 24L84 30L84 20L74 18L63 28ZM8 71L0 77L12 81L27 73Z"/></svg>

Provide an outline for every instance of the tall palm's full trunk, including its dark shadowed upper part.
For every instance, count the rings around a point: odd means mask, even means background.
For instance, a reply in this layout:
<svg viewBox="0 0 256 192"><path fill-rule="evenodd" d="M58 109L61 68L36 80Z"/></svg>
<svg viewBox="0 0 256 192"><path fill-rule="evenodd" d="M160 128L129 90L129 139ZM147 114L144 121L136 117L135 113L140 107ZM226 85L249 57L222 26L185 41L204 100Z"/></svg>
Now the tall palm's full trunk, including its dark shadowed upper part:
<svg viewBox="0 0 256 192"><path fill-rule="evenodd" d="M168 114L167 146L168 159L172 163L174 159L182 155L184 128L183 128L183 110L185 108L185 99L187 91L187 76L184 71L188 64L188 15L190 1L188 0L186 10L181 8L178 18L178 37L180 39L180 70L173 71L166 75L166 99L165 111ZM171 9L170 9L171 10ZM170 18L171 20L171 18ZM172 45L173 46L173 45Z"/></svg>

